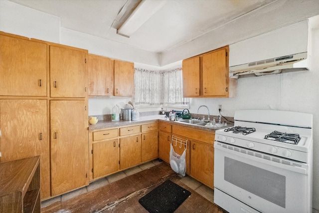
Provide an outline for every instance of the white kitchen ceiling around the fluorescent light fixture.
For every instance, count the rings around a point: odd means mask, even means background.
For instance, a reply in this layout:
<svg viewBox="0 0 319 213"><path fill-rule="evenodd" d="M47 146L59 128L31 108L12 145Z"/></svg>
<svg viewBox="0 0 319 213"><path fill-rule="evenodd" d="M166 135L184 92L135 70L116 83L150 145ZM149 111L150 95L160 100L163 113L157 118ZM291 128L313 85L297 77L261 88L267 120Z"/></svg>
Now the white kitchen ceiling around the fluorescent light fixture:
<svg viewBox="0 0 319 213"><path fill-rule="evenodd" d="M117 19L119 13L131 13L140 0L11 1L60 17L61 27L163 53L276 0L166 0L129 38L116 33L123 21Z"/></svg>

